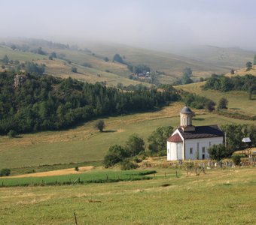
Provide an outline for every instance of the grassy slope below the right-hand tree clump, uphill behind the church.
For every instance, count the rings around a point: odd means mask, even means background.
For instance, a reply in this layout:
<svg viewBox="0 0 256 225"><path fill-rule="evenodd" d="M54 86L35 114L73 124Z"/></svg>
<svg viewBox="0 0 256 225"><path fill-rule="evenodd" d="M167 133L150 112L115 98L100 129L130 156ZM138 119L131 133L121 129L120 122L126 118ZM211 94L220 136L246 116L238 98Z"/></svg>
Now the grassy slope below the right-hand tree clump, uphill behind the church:
<svg viewBox="0 0 256 225"><path fill-rule="evenodd" d="M218 104L218 101L224 97L227 98L228 101L228 111L245 115L256 115L256 100L249 100L247 92L218 92L215 90L203 90L202 86L204 84L205 82L191 83L184 86L175 86L175 88L212 99L212 101L215 101L216 104Z"/></svg>

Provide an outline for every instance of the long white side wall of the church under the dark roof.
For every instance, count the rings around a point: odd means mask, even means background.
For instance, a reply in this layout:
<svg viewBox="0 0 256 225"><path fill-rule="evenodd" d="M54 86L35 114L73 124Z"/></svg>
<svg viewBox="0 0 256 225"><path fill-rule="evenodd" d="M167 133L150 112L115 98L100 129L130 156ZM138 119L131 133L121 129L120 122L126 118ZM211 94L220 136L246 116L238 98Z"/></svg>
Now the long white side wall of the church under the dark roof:
<svg viewBox="0 0 256 225"><path fill-rule="evenodd" d="M209 159L208 148L212 145L218 145L223 143L223 137L212 137L212 138L199 138L199 139L185 139L185 159L186 160L196 160L203 159L203 154L205 159ZM192 148L192 149L190 149ZM203 153L203 148L205 152ZM191 151L192 150L192 154ZM197 154L198 151L198 154Z"/></svg>

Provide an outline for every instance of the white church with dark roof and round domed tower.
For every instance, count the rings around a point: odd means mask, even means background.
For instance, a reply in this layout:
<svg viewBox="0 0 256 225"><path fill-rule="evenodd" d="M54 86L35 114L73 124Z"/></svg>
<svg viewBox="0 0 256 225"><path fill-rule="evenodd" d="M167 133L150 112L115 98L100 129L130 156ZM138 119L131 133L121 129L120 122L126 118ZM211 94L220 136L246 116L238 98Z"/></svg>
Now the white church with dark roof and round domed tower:
<svg viewBox="0 0 256 225"><path fill-rule="evenodd" d="M181 110L180 126L167 139L167 160L209 159L208 148L223 143L218 125L193 126L192 114L188 107Z"/></svg>

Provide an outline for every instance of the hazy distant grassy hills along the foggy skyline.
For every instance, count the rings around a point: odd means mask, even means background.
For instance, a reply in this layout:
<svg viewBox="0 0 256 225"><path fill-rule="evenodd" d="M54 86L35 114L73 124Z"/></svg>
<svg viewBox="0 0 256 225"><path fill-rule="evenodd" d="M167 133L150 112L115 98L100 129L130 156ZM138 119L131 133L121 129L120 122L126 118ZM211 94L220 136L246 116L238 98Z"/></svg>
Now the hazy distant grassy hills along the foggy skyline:
<svg viewBox="0 0 256 225"><path fill-rule="evenodd" d="M24 48L26 52L14 49L14 45ZM8 47L6 47L8 46ZM38 54L41 47L47 55ZM14 50L13 50L14 49ZM32 52L34 53L32 53ZM37 52L37 53L36 53ZM53 62L48 60L51 52L56 52L57 58ZM238 69L251 61L254 52L242 49L218 48L205 46L203 49L185 49L178 55L175 51L158 52L149 49L139 49L117 43L81 43L66 45L53 43L47 40L10 39L0 46L0 58L8 55L13 60L34 60L46 65L46 72L58 77L74 77L88 82L105 82L109 86L123 83L124 86L136 84L138 81L130 80L131 72L126 65L112 62L114 54L119 53L125 63L130 65L147 65L151 71L158 71L159 83L173 83L181 77L184 68L191 68L194 79L209 77L211 74L225 74L230 69ZM72 67L78 68L78 73L71 72Z"/></svg>

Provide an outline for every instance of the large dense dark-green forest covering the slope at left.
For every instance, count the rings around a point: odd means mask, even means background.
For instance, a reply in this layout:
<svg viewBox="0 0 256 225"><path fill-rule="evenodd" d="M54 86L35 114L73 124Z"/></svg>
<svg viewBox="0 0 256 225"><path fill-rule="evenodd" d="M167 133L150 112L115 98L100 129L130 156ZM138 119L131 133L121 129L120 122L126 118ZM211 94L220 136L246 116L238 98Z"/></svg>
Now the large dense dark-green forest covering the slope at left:
<svg viewBox="0 0 256 225"><path fill-rule="evenodd" d="M0 74L0 133L56 130L102 115L153 110L177 101L175 90L122 92L47 75Z"/></svg>

